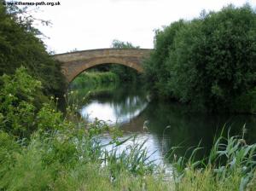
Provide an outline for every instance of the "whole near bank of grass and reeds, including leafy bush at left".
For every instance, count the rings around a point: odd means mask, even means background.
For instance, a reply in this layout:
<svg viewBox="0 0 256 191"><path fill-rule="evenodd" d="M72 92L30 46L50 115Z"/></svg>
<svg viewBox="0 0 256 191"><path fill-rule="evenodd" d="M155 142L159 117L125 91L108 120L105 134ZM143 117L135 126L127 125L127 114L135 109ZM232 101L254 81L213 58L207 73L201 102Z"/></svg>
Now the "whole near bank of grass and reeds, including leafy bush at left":
<svg viewBox="0 0 256 191"><path fill-rule="evenodd" d="M215 140L205 159L177 156L172 148L172 176L148 160L136 141L119 153L121 132L101 121L69 120L49 98L35 107L40 82L24 68L1 78L0 189L1 190L255 190L256 144L243 136ZM69 98L67 98L69 99ZM97 137L110 134L112 150Z"/></svg>

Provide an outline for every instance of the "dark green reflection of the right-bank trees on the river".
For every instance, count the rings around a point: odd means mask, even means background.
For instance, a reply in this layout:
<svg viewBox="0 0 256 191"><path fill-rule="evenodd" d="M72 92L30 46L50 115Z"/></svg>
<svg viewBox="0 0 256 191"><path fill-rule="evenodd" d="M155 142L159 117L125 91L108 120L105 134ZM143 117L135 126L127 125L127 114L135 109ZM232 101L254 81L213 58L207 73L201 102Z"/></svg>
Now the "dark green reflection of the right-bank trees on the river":
<svg viewBox="0 0 256 191"><path fill-rule="evenodd" d="M157 111L157 112L154 112ZM158 142L163 148L163 154L170 153L170 148L180 146L177 156L183 156L188 149L201 142L204 149L197 154L198 159L207 155L212 148L214 136L218 136L224 128L224 136L241 135L242 126L246 124L247 142L256 141L256 119L254 116L189 113L186 106L178 103L166 105L164 102L151 102L140 115L149 119L148 130L158 135ZM166 128L168 127L168 128Z"/></svg>

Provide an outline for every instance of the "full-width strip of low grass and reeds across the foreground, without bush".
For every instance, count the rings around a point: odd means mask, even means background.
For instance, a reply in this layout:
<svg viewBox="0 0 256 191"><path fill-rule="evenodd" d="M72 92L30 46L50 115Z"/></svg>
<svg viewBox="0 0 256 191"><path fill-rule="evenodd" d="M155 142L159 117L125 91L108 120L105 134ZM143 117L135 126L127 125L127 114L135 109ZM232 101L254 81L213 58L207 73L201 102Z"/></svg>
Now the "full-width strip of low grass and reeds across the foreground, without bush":
<svg viewBox="0 0 256 191"><path fill-rule="evenodd" d="M28 145L0 133L3 190L255 190L255 148L241 137L218 137L206 159L173 159L173 177L147 159L143 145L118 153L97 142L105 124L84 130L37 132ZM100 126L99 126L100 125ZM109 130L108 130L109 131ZM110 133L115 134L113 130ZM86 136L87 135L87 136ZM174 153L173 153L174 154ZM103 162L103 163L102 163ZM177 171L179 170L179 171Z"/></svg>

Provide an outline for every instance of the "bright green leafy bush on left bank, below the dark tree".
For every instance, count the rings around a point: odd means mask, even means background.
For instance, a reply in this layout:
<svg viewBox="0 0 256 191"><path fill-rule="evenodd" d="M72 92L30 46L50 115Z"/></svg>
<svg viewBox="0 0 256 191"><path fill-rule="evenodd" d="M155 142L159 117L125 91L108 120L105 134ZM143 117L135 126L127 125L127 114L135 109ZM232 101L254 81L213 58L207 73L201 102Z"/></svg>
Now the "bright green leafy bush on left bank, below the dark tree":
<svg viewBox="0 0 256 191"><path fill-rule="evenodd" d="M25 67L12 76L0 78L0 130L20 138L29 138L33 131L59 130L67 126L54 101L44 96L41 82L32 78ZM44 103L44 102L48 103Z"/></svg>

